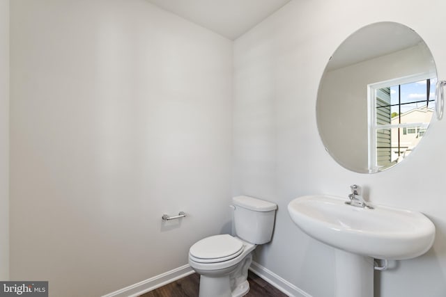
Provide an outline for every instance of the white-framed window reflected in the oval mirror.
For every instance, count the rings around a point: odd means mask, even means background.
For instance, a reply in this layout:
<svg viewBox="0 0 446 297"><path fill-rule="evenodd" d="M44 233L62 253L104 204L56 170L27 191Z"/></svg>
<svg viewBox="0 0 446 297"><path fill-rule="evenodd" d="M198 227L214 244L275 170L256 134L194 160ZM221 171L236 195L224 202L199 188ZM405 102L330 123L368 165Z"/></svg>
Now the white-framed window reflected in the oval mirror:
<svg viewBox="0 0 446 297"><path fill-rule="evenodd" d="M369 85L369 168L403 161L420 143L435 109L436 78L406 77Z"/></svg>

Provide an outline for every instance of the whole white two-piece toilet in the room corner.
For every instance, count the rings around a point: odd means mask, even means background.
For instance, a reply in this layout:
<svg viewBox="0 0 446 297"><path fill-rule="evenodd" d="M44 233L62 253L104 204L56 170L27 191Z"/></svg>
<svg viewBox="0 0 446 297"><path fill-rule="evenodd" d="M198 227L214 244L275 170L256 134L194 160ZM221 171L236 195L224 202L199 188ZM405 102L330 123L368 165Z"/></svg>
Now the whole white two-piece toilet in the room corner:
<svg viewBox="0 0 446 297"><path fill-rule="evenodd" d="M189 250L189 264L200 275L199 297L246 295L252 251L271 241L277 205L247 196L234 197L232 202L236 236L209 236Z"/></svg>

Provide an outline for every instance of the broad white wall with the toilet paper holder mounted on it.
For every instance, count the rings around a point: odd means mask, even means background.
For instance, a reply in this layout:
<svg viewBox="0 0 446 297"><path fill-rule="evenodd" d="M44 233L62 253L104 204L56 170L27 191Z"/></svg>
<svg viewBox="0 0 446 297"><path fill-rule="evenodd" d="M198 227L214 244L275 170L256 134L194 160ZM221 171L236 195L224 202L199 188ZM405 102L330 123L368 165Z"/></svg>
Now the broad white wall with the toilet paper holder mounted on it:
<svg viewBox="0 0 446 297"><path fill-rule="evenodd" d="M230 40L144 0L14 0L10 21L11 278L100 296L230 230Z"/></svg>

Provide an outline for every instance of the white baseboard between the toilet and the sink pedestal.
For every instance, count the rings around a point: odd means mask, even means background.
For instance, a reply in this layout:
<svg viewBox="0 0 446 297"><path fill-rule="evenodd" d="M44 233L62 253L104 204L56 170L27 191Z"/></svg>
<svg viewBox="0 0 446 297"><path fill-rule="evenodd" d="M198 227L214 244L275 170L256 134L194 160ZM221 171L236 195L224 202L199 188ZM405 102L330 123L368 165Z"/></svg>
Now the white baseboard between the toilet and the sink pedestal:
<svg viewBox="0 0 446 297"><path fill-rule="evenodd" d="M312 297L305 291L302 291L291 282L284 280L279 275L273 273L269 269L261 266L259 263L252 262L249 270L259 275L260 278L269 282L272 286L282 291L282 293L290 296L290 297Z"/></svg>

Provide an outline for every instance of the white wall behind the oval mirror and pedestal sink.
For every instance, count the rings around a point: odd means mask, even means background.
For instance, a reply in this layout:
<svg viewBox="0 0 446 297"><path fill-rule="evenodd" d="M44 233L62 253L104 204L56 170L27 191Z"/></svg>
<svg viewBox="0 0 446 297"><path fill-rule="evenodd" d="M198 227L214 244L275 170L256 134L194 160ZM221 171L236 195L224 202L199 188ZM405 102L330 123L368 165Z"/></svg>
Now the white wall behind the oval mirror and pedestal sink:
<svg viewBox="0 0 446 297"><path fill-rule="evenodd" d="M391 262L389 271L376 274L375 296L446 296L446 121L433 122L399 166L364 175L325 152L315 112L328 58L348 35L373 22L415 29L445 79L445 10L446 2L436 0L422 6L404 0L291 1L235 42L233 194L277 202L272 243L256 250L256 261L314 297L334 297L334 252L303 234L286 205L311 193L347 197L354 183L372 202L422 211L437 227L426 255Z"/></svg>

